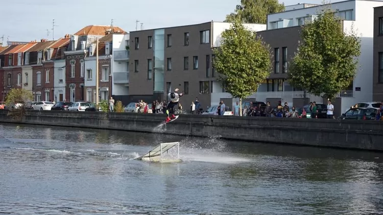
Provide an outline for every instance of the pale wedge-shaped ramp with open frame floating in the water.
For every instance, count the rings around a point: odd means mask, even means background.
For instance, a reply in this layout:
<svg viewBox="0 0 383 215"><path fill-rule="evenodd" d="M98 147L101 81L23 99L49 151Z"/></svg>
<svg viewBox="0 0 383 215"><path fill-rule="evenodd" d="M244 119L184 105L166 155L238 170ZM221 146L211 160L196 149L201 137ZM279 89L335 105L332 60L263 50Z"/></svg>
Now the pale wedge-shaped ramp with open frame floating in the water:
<svg viewBox="0 0 383 215"><path fill-rule="evenodd" d="M165 157L170 149L177 147L176 158ZM161 143L150 150L148 153L136 158L137 160L144 160L148 162L180 162L180 143Z"/></svg>

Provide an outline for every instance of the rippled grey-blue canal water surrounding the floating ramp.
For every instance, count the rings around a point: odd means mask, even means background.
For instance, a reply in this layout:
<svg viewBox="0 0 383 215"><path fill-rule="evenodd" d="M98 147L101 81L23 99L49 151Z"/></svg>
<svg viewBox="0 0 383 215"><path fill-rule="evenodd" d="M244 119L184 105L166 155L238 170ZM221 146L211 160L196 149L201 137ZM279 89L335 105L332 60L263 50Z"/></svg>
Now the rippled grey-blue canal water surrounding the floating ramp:
<svg viewBox="0 0 383 215"><path fill-rule="evenodd" d="M182 163L134 160L174 141ZM382 158L219 137L0 124L0 213L383 214Z"/></svg>

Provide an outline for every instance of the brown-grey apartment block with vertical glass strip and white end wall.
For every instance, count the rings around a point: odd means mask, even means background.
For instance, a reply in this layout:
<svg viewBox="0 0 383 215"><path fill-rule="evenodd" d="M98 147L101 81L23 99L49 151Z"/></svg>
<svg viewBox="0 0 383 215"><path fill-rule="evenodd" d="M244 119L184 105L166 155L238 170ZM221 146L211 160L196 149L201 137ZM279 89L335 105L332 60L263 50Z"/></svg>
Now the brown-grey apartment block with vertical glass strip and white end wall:
<svg viewBox="0 0 383 215"><path fill-rule="evenodd" d="M254 31L266 30L265 24L245 25ZM185 94L184 108L198 97L206 109L211 93L221 87L212 68L212 47L220 45L221 33L229 28L230 23L211 21L130 32L130 101L163 100L179 88Z"/></svg>

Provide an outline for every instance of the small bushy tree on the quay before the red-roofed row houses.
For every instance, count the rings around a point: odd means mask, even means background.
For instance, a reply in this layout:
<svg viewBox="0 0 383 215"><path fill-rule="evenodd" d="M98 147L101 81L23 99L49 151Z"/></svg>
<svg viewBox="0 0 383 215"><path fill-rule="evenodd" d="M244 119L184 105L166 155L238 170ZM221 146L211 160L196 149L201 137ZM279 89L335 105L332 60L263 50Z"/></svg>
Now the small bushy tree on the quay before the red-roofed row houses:
<svg viewBox="0 0 383 215"><path fill-rule="evenodd" d="M28 102L32 101L33 94L25 89L11 89L7 94L5 104L7 106L8 115L16 120L21 120L25 115L25 107Z"/></svg>

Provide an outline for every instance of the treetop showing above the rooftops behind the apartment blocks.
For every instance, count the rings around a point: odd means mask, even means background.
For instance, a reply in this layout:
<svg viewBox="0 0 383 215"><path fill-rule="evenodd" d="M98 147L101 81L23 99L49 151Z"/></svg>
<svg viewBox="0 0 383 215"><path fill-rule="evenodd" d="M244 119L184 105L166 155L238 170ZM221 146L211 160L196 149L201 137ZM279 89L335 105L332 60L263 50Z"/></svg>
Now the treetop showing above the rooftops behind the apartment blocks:
<svg viewBox="0 0 383 215"><path fill-rule="evenodd" d="M284 5L278 0L241 0L234 13L226 16L225 22L240 20L243 23L266 24L267 15L284 11Z"/></svg>

